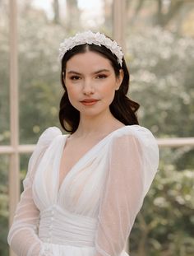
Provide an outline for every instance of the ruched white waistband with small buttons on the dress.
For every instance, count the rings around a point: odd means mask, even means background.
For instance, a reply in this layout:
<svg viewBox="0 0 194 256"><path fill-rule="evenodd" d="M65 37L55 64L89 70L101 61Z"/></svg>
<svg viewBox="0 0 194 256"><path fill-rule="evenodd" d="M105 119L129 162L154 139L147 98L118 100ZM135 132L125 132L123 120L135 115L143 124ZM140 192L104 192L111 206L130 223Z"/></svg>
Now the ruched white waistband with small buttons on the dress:
<svg viewBox="0 0 194 256"><path fill-rule="evenodd" d="M39 239L53 244L94 246L97 220L53 205L40 213Z"/></svg>

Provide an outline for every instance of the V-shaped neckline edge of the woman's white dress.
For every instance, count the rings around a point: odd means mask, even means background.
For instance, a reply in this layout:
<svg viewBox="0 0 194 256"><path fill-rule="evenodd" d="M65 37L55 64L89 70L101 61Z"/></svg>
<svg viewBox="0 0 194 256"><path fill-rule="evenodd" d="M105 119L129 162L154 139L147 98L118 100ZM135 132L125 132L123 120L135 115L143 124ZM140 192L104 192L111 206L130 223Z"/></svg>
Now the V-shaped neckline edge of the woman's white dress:
<svg viewBox="0 0 194 256"><path fill-rule="evenodd" d="M70 168L70 170L67 171L67 174L64 176L64 178L62 179L62 182L60 184L60 180L59 179L60 179L60 169L61 169L61 164L62 164L62 154L63 154L64 148L66 146L67 138L70 136L69 134L63 134L62 135L62 138L63 138L63 140L62 140L62 149L61 149L61 152L60 152L59 163L58 163L58 196L60 195L62 187L66 183L68 176L70 174L72 174L72 171L75 170L76 167L78 165L80 165L81 162L84 161L85 158L88 155L90 155L93 151L95 151L95 149L97 147L99 147L103 142L105 142L109 137L112 137L112 135L114 133L117 133L118 131L120 131L121 129L126 128L126 127L127 126L122 126L121 128L118 128L118 129L114 130L113 132L111 132L108 135L106 135L105 137L103 137L99 142L95 143L94 146L90 147L90 149L88 151L86 151L85 154L83 156L81 156L81 158L79 158L79 160L76 161L76 163L74 165L72 165L72 168Z"/></svg>

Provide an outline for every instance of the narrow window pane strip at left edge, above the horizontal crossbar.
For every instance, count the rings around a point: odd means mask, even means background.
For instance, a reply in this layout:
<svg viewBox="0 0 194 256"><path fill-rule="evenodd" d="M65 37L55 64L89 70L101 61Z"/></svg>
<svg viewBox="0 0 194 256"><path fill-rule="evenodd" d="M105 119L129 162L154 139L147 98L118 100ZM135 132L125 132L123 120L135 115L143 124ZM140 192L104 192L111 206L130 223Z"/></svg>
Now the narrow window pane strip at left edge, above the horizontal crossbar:
<svg viewBox="0 0 194 256"><path fill-rule="evenodd" d="M10 142L8 3L0 2L0 145Z"/></svg>

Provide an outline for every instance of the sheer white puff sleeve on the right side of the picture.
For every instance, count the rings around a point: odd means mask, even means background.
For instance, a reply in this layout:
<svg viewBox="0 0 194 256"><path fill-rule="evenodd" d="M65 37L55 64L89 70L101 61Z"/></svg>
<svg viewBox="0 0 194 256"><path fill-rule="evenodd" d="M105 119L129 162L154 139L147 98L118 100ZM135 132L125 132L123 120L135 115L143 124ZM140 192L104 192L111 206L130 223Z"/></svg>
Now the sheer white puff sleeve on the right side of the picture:
<svg viewBox="0 0 194 256"><path fill-rule="evenodd" d="M146 128L121 129L109 148L109 170L99 206L95 256L119 256L159 163L155 138Z"/></svg>

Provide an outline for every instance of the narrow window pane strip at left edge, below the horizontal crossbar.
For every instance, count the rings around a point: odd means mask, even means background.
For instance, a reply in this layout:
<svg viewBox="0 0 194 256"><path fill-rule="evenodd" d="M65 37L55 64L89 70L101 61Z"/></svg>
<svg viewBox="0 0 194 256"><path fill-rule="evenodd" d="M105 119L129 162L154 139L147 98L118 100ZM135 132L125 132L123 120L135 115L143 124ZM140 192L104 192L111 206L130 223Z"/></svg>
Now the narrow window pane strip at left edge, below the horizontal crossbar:
<svg viewBox="0 0 194 256"><path fill-rule="evenodd" d="M0 155L0 255L8 255L8 170L9 156Z"/></svg>

